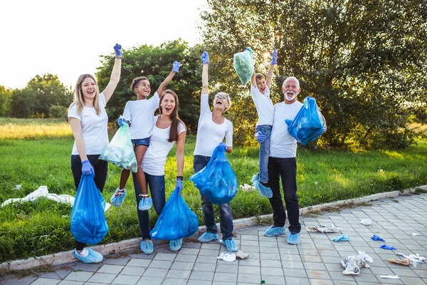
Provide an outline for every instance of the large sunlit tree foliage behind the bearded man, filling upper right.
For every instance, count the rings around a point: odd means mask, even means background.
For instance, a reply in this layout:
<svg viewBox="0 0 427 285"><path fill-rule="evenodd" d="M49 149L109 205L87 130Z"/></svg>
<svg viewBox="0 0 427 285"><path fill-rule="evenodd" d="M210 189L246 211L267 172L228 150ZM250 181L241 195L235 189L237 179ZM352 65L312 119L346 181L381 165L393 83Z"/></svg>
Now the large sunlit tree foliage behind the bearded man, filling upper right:
<svg viewBox="0 0 427 285"><path fill-rule="evenodd" d="M208 0L202 12L210 78L239 95L230 115L246 138L256 122L251 98L233 70L233 53L251 46L255 68L267 71L278 48L273 100L283 80L300 79L325 115L320 143L354 147L406 147L408 118L425 113L427 6L406 0ZM280 99L283 100L283 99ZM241 122L246 122L241 124ZM236 131L236 128L235 128ZM241 140L246 142L247 140ZM250 140L249 140L250 141Z"/></svg>

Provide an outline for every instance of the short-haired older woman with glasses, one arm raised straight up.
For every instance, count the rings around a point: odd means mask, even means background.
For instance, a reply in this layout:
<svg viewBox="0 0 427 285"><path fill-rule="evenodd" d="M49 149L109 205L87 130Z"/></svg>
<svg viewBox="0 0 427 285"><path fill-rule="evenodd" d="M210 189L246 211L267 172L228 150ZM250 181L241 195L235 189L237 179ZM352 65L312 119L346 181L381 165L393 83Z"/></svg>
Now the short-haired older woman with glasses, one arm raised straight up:
<svg viewBox="0 0 427 285"><path fill-rule="evenodd" d="M220 92L215 95L214 110L209 108L208 67L209 55L206 51L201 56L203 71L201 73L201 98L200 118L197 126L196 148L194 149L194 173L203 169L211 159L215 147L223 146L226 152L233 150L233 124L223 117L231 106L230 96ZM223 142L226 137L226 143ZM199 242L210 242L218 239L218 229L215 224L214 204L201 194L201 207L204 214L206 232L199 237ZM237 252L237 245L233 239L233 217L231 217L230 204L220 204L219 222L223 234L223 244L229 252Z"/></svg>

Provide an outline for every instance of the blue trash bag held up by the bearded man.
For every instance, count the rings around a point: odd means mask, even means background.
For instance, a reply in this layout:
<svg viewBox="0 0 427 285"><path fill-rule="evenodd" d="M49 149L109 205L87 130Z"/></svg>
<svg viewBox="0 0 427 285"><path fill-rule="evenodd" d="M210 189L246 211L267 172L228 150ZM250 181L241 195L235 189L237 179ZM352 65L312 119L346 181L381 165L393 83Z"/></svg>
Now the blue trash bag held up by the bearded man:
<svg viewBox="0 0 427 285"><path fill-rule="evenodd" d="M304 105L295 119L285 120L285 123L288 125L289 134L303 145L319 138L326 130L326 123L317 107L316 99L310 96L304 99Z"/></svg>

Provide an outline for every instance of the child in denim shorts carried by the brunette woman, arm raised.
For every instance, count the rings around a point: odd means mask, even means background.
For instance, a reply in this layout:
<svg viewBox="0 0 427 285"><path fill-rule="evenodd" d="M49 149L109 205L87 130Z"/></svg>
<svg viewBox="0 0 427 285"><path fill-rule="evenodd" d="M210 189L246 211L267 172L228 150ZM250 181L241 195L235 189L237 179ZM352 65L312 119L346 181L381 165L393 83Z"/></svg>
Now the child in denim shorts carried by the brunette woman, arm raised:
<svg viewBox="0 0 427 285"><path fill-rule="evenodd" d="M127 121L129 126L130 139L132 140L132 146L135 150L135 155L137 157L138 171L136 176L139 183L140 192L135 194L141 195L144 199L148 198L147 185L145 182L144 172L141 169L141 162L144 158L145 152L149 145L149 137L152 134L154 111L159 108L159 94L162 95L164 88L174 78L174 75L179 72L179 62L175 61L172 71L169 73L169 76L164 79L162 84L160 84L157 92L154 93L152 98L147 100L149 93L151 92L150 84L148 79L145 76L135 78L130 85L132 91L137 95L137 100L127 101L125 110L123 111L122 118L117 120L117 123L122 126L123 121ZM120 175L120 186L117 188L115 193L111 197L112 204L120 206L123 199L125 199L126 191L125 185L127 179L129 178L130 170L122 170ZM113 203L114 201L117 201ZM150 204L150 203L149 203ZM139 204L137 204L137 207Z"/></svg>

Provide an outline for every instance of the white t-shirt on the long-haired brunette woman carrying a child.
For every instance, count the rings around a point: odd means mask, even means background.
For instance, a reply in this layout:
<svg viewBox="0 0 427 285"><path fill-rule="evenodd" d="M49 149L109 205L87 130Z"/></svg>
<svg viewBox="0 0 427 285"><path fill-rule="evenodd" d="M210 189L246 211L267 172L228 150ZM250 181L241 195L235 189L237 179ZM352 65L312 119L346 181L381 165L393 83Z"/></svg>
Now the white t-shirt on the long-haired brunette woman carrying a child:
<svg viewBox="0 0 427 285"><path fill-rule="evenodd" d="M149 146L142 159L142 171L149 175L164 175L164 165L166 164L167 154L176 142L168 142L169 130L171 127L160 129L156 127L159 116L154 116L152 135L149 139ZM185 132L185 126L179 122L178 134Z"/></svg>

